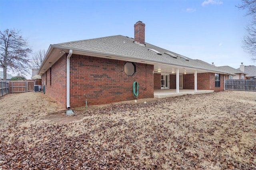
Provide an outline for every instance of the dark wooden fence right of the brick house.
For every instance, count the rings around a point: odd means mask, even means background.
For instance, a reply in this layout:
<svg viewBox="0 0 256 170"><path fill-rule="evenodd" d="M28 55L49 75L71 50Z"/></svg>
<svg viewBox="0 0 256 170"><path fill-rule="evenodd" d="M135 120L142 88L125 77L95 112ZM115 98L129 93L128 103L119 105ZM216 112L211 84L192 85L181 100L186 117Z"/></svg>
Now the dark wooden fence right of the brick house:
<svg viewBox="0 0 256 170"><path fill-rule="evenodd" d="M225 80L225 90L256 92L256 80Z"/></svg>

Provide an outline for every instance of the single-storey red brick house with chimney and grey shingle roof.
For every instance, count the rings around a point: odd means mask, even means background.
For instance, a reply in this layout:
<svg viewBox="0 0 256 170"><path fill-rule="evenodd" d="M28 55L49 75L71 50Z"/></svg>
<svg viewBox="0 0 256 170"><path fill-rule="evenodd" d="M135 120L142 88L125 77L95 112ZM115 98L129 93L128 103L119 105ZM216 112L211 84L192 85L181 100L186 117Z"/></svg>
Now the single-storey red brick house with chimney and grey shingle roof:
<svg viewBox="0 0 256 170"><path fill-rule="evenodd" d="M122 35L50 45L38 74L45 94L63 106L153 98L156 89L224 90L227 72L145 42L145 24L134 39ZM176 83L177 82L177 83Z"/></svg>

